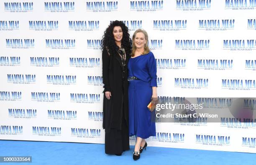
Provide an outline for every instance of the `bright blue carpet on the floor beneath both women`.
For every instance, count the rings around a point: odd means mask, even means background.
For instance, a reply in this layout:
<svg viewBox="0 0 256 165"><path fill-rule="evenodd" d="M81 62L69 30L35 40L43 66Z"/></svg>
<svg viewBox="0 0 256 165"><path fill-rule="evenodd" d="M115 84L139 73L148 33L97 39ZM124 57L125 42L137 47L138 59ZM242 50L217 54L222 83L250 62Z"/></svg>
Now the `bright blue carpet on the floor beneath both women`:
<svg viewBox="0 0 256 165"><path fill-rule="evenodd" d="M256 155L208 150L147 147L132 158L134 146L122 156L106 155L104 145L0 140L0 156L32 156L35 165L255 165ZM2 163L0 163L1 165ZM3 163L7 164L7 163ZM19 164L20 163L8 163Z"/></svg>

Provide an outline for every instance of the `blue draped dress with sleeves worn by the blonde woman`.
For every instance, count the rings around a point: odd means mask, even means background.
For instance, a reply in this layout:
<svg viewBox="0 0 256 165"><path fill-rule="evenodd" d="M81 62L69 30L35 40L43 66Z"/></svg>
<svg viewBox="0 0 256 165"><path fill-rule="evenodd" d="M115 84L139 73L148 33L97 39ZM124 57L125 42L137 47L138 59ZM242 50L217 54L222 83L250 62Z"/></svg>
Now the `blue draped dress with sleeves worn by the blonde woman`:
<svg viewBox="0 0 256 165"><path fill-rule="evenodd" d="M151 112L147 108L152 87L157 87L156 59L152 52L130 58L128 77L133 76L138 80L130 80L128 85L129 136L146 139L156 135L156 123L151 121Z"/></svg>

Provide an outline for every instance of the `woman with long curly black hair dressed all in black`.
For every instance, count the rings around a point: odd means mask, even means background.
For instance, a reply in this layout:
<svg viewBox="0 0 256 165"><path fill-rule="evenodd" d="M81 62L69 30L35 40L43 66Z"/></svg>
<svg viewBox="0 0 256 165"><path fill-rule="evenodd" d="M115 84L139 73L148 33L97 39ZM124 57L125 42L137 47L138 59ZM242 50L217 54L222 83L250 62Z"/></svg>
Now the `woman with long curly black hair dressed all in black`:
<svg viewBox="0 0 256 165"><path fill-rule="evenodd" d="M128 71L131 39L121 21L113 21L102 38L102 75L104 84L103 129L105 153L122 155L129 150Z"/></svg>

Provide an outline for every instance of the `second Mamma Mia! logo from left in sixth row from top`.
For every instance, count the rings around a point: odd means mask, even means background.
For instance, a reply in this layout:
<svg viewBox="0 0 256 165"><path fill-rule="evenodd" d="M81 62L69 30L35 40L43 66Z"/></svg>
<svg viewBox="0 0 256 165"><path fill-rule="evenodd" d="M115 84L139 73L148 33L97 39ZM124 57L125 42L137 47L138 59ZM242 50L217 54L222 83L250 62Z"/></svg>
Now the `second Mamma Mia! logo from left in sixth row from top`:
<svg viewBox="0 0 256 165"><path fill-rule="evenodd" d="M60 93L31 92L31 100L37 102L56 102L60 101Z"/></svg>

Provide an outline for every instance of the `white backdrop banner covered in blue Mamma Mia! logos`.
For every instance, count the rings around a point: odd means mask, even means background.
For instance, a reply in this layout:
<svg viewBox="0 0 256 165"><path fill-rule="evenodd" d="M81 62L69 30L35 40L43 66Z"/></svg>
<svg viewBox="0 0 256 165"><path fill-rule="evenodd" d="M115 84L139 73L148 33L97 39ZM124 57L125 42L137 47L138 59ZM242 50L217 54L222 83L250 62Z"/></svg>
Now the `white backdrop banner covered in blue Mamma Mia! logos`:
<svg viewBox="0 0 256 165"><path fill-rule="evenodd" d="M160 99L248 97L254 110L255 13L256 0L1 0L0 139L104 143L100 44L114 20L148 32ZM158 122L147 142L256 153L255 119Z"/></svg>

